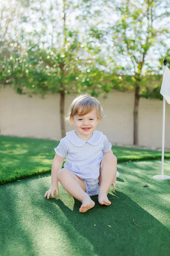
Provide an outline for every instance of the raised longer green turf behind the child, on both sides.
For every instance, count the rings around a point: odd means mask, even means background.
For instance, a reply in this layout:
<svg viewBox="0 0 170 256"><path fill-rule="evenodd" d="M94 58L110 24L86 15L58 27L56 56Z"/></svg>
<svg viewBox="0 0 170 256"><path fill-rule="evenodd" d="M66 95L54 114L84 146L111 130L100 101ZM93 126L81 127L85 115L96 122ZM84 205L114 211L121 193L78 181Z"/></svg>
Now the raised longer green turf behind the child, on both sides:
<svg viewBox="0 0 170 256"><path fill-rule="evenodd" d="M51 171L59 141L0 136L0 185ZM118 162L158 159L161 152L113 146ZM170 158L170 152L165 153Z"/></svg>

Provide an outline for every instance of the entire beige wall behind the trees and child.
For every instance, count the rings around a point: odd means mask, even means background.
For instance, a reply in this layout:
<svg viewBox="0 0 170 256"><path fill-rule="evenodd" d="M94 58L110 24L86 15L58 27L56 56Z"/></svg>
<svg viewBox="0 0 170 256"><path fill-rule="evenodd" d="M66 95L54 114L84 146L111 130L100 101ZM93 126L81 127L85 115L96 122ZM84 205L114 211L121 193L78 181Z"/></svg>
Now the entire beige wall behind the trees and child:
<svg viewBox="0 0 170 256"><path fill-rule="evenodd" d="M66 95L66 112L76 94ZM112 144L133 144L134 92L113 91L107 99L99 97L106 115L97 129L102 131ZM59 94L19 95L11 87L0 89L0 134L61 139L59 117ZM165 147L170 148L170 105L166 104ZM66 123L66 132L74 126ZM139 145L161 147L162 101L140 99Z"/></svg>

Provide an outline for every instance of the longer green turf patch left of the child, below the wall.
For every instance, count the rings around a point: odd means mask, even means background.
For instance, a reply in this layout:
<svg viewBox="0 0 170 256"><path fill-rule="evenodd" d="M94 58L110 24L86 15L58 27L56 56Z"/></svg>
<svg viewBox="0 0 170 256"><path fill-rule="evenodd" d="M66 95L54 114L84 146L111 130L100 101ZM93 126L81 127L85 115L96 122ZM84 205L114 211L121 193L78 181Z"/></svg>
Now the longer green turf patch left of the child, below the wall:
<svg viewBox="0 0 170 256"><path fill-rule="evenodd" d="M0 136L0 185L49 172L58 143Z"/></svg>

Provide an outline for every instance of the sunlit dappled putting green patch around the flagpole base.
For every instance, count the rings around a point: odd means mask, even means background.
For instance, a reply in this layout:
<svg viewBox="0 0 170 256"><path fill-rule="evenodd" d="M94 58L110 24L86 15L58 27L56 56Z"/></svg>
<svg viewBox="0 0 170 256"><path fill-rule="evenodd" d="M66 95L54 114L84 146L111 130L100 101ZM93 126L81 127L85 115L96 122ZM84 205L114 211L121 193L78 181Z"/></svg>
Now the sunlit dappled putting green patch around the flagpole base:
<svg viewBox="0 0 170 256"><path fill-rule="evenodd" d="M170 176L170 160L164 161L164 174ZM157 180L153 176L161 174L161 160L143 162L119 163L118 171L125 180L124 187L117 184L120 191L133 198L145 210L155 211L159 219L166 215L166 222L170 226L170 179ZM146 187L143 185L147 184Z"/></svg>

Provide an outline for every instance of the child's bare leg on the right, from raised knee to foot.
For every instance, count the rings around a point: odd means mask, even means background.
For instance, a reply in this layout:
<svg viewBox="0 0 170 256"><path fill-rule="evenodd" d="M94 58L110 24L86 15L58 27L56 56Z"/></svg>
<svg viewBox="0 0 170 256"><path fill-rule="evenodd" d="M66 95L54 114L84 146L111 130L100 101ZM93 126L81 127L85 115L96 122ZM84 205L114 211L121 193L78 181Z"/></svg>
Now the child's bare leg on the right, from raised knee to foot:
<svg viewBox="0 0 170 256"><path fill-rule="evenodd" d="M100 164L99 176L99 196L98 201L100 204L110 205L111 202L107 198L108 191L115 179L117 171L117 159L111 154L107 153L103 156Z"/></svg>

